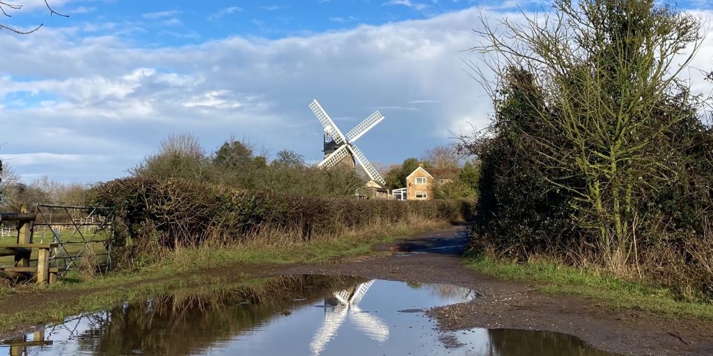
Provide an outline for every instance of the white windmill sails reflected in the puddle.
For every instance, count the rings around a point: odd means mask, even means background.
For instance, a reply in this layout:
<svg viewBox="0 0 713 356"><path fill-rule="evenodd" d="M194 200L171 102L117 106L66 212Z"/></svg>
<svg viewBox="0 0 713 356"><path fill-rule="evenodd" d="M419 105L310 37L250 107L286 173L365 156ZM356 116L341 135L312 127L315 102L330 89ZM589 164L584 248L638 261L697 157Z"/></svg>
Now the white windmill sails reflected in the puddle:
<svg viewBox="0 0 713 356"><path fill-rule="evenodd" d="M344 320L349 320L356 325L367 337L379 343L389 339L389 326L383 320L359 309L359 302L366 295L375 280L359 283L348 290L334 292L333 298L324 300L324 323L312 337L309 350L312 355L319 355L327 347L329 340L337 334Z"/></svg>

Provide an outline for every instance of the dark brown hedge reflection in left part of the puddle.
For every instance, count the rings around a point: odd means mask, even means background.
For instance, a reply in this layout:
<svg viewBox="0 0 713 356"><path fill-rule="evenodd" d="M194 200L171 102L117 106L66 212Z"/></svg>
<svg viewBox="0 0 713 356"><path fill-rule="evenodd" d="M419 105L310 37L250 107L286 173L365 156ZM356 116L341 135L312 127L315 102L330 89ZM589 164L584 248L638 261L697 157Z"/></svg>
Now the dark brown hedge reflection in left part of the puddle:
<svg viewBox="0 0 713 356"><path fill-rule="evenodd" d="M188 290L113 308L78 335L80 350L95 354L186 355L227 340L279 313L312 305L325 293L348 288L359 278L284 276L256 286ZM293 298L305 298L293 301ZM241 304L247 301L248 304ZM96 315L102 315L98 313Z"/></svg>

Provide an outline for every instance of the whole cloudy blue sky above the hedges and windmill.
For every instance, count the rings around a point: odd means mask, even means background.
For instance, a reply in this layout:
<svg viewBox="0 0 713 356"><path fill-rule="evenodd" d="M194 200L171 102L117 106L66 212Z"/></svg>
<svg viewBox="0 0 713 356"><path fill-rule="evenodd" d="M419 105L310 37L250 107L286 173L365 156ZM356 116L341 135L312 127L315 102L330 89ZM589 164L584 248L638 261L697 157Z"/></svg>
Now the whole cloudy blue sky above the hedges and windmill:
<svg viewBox="0 0 713 356"><path fill-rule="evenodd" d="M125 176L168 135L208 152L230 137L322 158L319 100L342 132L386 119L357 145L371 162L419 157L482 129L492 112L468 75L479 16L547 1L16 0L0 31L0 158L25 182ZM679 3L709 18L709 1ZM709 21L706 21L709 26ZM713 67L710 36L694 58ZM694 90L709 83L691 76Z"/></svg>

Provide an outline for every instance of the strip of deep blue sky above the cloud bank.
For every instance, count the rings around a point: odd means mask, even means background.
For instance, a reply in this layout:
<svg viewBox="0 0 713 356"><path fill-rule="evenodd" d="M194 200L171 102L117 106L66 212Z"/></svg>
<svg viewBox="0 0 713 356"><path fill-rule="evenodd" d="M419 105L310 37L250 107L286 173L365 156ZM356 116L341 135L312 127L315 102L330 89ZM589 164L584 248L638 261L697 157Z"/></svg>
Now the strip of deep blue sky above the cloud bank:
<svg viewBox="0 0 713 356"><path fill-rule="evenodd" d="M71 18L55 16L47 19L40 8L33 11L33 14L23 16L21 23L30 25L42 21L51 26L71 26L83 21L135 23L147 30L134 36L138 43L180 46L226 36L275 39L339 31L359 24L378 26L389 22L429 19L439 14L468 9L475 5L475 1L78 0L55 1L55 4L59 5L58 10L70 14Z"/></svg>

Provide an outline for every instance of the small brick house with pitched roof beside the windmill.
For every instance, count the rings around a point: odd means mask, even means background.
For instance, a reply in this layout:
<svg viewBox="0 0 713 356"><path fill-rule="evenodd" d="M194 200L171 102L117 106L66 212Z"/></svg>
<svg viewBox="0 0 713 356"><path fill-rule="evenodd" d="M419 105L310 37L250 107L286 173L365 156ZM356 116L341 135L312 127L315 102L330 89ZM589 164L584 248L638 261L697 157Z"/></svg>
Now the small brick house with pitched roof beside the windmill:
<svg viewBox="0 0 713 356"><path fill-rule="evenodd" d="M429 200L434 199L436 184L451 183L458 179L460 168L424 168L423 164L406 177L406 187L394 189L394 199Z"/></svg>

